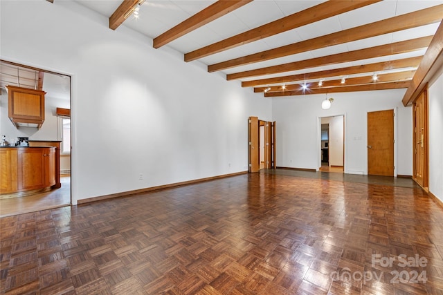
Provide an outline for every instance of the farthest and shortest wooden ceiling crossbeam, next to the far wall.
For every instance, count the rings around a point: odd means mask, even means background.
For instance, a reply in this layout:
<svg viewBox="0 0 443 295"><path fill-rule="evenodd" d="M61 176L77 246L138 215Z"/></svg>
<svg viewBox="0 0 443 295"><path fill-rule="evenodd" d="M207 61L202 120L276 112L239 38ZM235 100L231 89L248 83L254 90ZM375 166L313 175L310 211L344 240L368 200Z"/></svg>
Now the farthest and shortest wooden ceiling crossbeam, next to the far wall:
<svg viewBox="0 0 443 295"><path fill-rule="evenodd" d="M279 97L279 96L296 96L296 95L310 95L310 94L321 94L321 93L346 93L346 92L356 92L356 91L376 91L376 90L386 90L386 89L398 89L398 88L408 88L410 81L401 82L390 82L390 83L374 83L358 86L342 86L342 87L331 87L331 88L316 88L298 91L282 91L273 93L264 93L264 97Z"/></svg>

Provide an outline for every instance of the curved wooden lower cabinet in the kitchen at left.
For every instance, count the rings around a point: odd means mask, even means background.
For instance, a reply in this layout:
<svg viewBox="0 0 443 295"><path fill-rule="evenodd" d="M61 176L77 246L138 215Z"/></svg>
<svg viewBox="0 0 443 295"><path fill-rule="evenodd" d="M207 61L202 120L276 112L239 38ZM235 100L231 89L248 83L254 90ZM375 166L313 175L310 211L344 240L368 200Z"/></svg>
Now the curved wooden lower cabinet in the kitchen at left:
<svg viewBox="0 0 443 295"><path fill-rule="evenodd" d="M55 184L54 147L1 148L0 160L0 193L44 189Z"/></svg>

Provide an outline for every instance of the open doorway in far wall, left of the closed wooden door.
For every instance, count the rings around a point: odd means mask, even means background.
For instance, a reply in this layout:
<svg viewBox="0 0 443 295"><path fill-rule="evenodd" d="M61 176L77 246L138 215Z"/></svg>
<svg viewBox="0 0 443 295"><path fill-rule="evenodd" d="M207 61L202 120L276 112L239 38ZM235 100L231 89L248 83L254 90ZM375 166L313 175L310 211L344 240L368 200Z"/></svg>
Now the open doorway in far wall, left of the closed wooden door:
<svg viewBox="0 0 443 295"><path fill-rule="evenodd" d="M321 172L344 172L345 166L345 116L320 118L320 168Z"/></svg>

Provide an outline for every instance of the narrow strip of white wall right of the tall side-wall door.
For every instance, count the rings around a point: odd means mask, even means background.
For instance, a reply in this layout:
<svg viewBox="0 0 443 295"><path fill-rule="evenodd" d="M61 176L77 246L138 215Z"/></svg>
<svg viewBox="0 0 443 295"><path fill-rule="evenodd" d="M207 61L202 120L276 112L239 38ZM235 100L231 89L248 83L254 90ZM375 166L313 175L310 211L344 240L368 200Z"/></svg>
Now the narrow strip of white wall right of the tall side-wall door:
<svg viewBox="0 0 443 295"><path fill-rule="evenodd" d="M429 86L429 191L443 202L443 75Z"/></svg>

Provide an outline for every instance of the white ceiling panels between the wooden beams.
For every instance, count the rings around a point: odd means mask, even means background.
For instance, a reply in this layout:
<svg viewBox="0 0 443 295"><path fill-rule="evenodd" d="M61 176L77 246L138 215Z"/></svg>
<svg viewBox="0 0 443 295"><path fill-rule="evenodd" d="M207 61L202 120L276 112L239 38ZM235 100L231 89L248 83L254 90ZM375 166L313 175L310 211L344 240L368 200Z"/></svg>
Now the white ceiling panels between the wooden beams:
<svg viewBox="0 0 443 295"><path fill-rule="evenodd" d="M101 15L110 17L122 1L77 0L77 2L81 3L87 8L90 8L91 10L100 13ZM323 2L325 1L255 0L240 8L237 8L237 10L234 10L233 12L230 12L223 17L219 17L218 19L211 21L205 26L189 32L183 37L175 39L166 46L170 46L171 48L174 48L175 50L178 50L180 53L183 54L189 53L193 50L197 50L204 46L213 44L217 41L232 37L233 35L237 35L253 28L257 28L258 26L262 26L266 23L281 19L282 17L286 17L296 12L300 12L301 10L311 8ZM215 3L215 1L213 0L146 0L141 5L139 14L140 17L136 19L134 16L131 16L126 19L121 26L127 26L129 28L132 28L133 30L136 30L137 32L141 32L147 37L154 39L155 37L161 35L163 32L166 32L170 28L177 26L182 21L185 21L189 17L192 17L192 15L197 14L197 12L203 10L213 3ZM385 0L378 3L373 3L363 8L352 10L350 12L345 12L341 15L329 17L327 19L323 19L322 21L309 23L306 26L289 30L287 32L282 32L278 35L273 35L271 37L266 37L258 41L253 41L251 43L237 46L229 50L224 50L221 53L216 53L213 55L209 55L208 57L203 57L199 59L199 61L206 65L217 64L221 61L227 61L230 59L235 59L237 57L259 53L264 50L270 50L272 48L277 48L287 44L305 41L314 37L327 35L348 28L354 28L356 26L362 26L366 23L381 21L383 19L395 17L408 12L413 12L415 10L421 10L431 6L437 6L440 4L443 4L443 0ZM352 41L345 44L328 46L326 48L310 50L308 52L298 53L296 55L289 55L267 61L256 62L254 64L237 66L235 68L221 70L221 72L225 74L239 73L245 70L253 70L256 68L286 64L289 62L312 59L314 57L323 57L336 53L346 53L352 50L359 50L383 44L391 44L397 41L424 37L428 35L433 35L437 30L439 24L440 23L433 23L431 25L421 26L419 28L412 28L399 32L392 32L386 35L380 35L377 37L361 39L359 41ZM118 28L116 30L118 30ZM162 48L159 48L157 50L162 50ZM343 68L345 66L358 66L362 64L371 64L381 61L390 61L392 59L422 56L424 55L425 51L426 48L410 53L402 53L401 55L388 55L372 59L350 61L343 64L321 66L320 68L293 70L291 72L285 72L284 75L302 74L318 70L330 70L334 68ZM210 73L208 73L208 75L210 75ZM241 79L241 81L279 77L282 75L282 73L279 73L258 77L248 77ZM370 73L370 75L372 75L372 73ZM334 78L329 77L329 79Z"/></svg>

